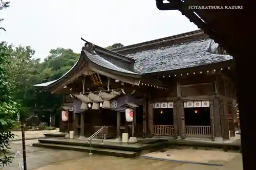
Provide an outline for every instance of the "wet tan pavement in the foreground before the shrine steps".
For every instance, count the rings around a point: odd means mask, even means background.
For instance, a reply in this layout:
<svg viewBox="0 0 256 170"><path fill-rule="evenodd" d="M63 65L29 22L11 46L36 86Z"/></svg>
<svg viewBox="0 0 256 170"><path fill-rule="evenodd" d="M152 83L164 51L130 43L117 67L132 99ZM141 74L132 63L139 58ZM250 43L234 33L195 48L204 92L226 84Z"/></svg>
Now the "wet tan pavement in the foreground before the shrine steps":
<svg viewBox="0 0 256 170"><path fill-rule="evenodd" d="M208 166L191 163L177 163L169 161L160 161L142 158L120 158L103 155L89 156L88 153L51 150L45 148L31 147L37 140L26 140L27 167L28 170L81 170L81 169L100 169L100 170L129 170L129 169L159 169L159 170L216 170L221 166ZM12 152L20 151L22 153L22 141L11 142ZM13 163L4 167L4 170L17 170L18 163L23 161L22 156L16 156ZM232 161L232 160L231 160ZM225 165L224 165L225 166ZM223 166L223 167L224 167ZM229 169L221 169L229 170ZM232 168L232 170L241 170Z"/></svg>

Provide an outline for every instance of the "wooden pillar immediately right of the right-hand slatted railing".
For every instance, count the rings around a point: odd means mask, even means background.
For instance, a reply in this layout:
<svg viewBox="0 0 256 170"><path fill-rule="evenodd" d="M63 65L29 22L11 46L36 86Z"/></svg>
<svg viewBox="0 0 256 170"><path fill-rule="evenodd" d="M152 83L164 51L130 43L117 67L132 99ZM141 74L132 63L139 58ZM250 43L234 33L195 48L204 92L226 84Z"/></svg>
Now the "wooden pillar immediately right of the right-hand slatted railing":
<svg viewBox="0 0 256 170"><path fill-rule="evenodd" d="M220 117L220 105L219 105L219 99L215 98L212 101L212 107L213 107L213 118L214 118L214 135L215 138L221 138L222 132L221 132L221 117Z"/></svg>

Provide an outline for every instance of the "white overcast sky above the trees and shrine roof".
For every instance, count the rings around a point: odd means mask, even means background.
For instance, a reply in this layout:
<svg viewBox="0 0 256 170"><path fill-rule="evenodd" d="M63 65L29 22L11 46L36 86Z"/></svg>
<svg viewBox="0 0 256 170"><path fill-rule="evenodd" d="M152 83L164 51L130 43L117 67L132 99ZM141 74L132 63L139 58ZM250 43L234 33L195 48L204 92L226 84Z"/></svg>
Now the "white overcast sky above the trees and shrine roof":
<svg viewBox="0 0 256 170"><path fill-rule="evenodd" d="M1 41L30 45L36 58L52 48L79 53L84 42L130 45L197 30L179 11L160 11L155 0L9 0Z"/></svg>

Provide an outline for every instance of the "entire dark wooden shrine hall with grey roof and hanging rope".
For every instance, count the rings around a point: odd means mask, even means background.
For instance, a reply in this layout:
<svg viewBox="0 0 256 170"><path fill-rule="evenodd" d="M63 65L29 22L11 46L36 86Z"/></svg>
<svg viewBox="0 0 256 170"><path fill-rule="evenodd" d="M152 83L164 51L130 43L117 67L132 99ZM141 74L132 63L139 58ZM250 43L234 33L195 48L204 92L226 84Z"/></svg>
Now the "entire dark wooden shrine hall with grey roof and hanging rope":
<svg viewBox="0 0 256 170"><path fill-rule="evenodd" d="M105 126L118 140L219 141L235 135L234 75L234 59L197 30L112 51L86 41L65 75L34 86L65 96L60 131L78 139Z"/></svg>

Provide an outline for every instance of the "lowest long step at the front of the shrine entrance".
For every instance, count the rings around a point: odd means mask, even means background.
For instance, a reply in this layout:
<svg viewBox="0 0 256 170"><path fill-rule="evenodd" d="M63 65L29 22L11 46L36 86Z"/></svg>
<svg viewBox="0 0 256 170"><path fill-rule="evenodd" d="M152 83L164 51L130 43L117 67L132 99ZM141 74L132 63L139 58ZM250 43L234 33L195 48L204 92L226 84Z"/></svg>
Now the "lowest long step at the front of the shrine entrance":
<svg viewBox="0 0 256 170"><path fill-rule="evenodd" d="M33 143L33 147L51 148L51 149L59 149L59 150L72 150L72 151L80 151L80 152L90 153L90 147L83 147L83 146L78 146L78 145L65 145L65 144L54 144L54 143ZM139 156L139 153L137 153L137 152L120 151L120 150L103 149L103 148L92 148L92 153L124 157L124 158L135 158L135 157Z"/></svg>

